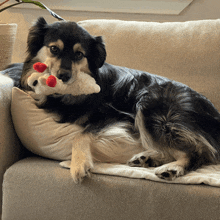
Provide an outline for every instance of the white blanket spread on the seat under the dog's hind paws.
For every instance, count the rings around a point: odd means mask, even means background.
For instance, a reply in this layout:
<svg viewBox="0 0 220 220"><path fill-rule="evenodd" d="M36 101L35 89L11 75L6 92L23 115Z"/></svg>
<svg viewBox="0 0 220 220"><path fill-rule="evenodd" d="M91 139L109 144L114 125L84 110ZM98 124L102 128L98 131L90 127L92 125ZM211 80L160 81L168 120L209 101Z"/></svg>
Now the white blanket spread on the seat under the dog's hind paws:
<svg viewBox="0 0 220 220"><path fill-rule="evenodd" d="M60 163L62 167L69 168L70 161ZM158 182L179 184L206 184L220 187L220 165L204 166L196 171L191 171L185 176L178 177L173 181L166 181L154 174L155 168L129 167L123 164L95 163L92 173L112 176L122 176L136 179L148 179Z"/></svg>

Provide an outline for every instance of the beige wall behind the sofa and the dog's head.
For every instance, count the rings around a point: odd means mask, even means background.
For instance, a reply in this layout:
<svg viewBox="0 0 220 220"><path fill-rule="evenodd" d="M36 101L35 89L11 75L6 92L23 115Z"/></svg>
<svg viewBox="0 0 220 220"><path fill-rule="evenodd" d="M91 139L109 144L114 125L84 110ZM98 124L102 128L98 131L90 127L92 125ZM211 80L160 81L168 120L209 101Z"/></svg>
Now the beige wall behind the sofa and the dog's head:
<svg viewBox="0 0 220 220"><path fill-rule="evenodd" d="M136 21L174 22L202 19L217 19L220 17L220 1L218 0L194 0L180 15L150 15L150 14L118 14L118 13L94 13L56 11L66 20L80 21L85 19L122 19ZM25 58L26 39L28 29L37 17L43 16L48 23L55 19L46 10L40 9L10 9L0 14L0 22L17 23L18 32L14 46L12 62L22 62Z"/></svg>

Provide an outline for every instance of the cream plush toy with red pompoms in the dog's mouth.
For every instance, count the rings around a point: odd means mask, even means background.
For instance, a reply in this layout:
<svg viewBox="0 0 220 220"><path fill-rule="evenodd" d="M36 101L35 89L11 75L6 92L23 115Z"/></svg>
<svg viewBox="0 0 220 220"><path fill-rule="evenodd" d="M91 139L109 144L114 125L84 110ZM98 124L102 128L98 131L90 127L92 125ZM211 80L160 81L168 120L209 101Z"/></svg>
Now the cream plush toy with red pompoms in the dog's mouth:
<svg viewBox="0 0 220 220"><path fill-rule="evenodd" d="M73 83L65 84L57 77L50 75L44 63L35 63L34 70L27 79L27 84L37 95L71 94L74 96L99 93L100 87L90 75L80 72Z"/></svg>

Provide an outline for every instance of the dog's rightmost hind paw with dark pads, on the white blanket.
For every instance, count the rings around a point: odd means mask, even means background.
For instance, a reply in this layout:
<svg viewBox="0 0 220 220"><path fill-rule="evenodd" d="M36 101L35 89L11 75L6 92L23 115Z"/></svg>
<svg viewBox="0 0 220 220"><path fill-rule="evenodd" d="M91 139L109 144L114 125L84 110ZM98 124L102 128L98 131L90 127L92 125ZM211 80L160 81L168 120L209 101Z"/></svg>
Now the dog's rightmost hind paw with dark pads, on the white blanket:
<svg viewBox="0 0 220 220"><path fill-rule="evenodd" d="M171 181L177 177L183 176L185 174L185 169L175 163L168 163L156 168L155 174L161 179Z"/></svg>

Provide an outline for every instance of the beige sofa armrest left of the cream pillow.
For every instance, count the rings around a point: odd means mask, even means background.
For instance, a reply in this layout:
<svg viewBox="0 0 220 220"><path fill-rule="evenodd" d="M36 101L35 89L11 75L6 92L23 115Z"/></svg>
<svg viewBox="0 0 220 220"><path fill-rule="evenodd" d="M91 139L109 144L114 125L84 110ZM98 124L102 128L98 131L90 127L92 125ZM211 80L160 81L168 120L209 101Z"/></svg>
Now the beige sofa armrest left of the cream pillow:
<svg viewBox="0 0 220 220"><path fill-rule="evenodd" d="M15 133L10 111L13 84L12 79L0 72L0 184L5 170L21 157L22 147Z"/></svg>

